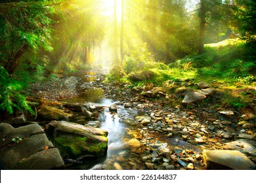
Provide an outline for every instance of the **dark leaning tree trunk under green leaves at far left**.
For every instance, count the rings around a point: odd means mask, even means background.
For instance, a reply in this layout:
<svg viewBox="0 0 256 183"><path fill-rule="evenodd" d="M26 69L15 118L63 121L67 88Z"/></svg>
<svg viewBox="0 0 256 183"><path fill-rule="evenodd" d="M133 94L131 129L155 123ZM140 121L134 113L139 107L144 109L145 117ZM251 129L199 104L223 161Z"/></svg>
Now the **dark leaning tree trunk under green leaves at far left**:
<svg viewBox="0 0 256 183"><path fill-rule="evenodd" d="M20 48L20 50L18 50L16 54L7 61L5 69L8 71L9 75L12 75L14 73L16 67L20 63L20 58L22 57L24 52L26 52L26 50L28 50L28 44L24 44L22 48Z"/></svg>

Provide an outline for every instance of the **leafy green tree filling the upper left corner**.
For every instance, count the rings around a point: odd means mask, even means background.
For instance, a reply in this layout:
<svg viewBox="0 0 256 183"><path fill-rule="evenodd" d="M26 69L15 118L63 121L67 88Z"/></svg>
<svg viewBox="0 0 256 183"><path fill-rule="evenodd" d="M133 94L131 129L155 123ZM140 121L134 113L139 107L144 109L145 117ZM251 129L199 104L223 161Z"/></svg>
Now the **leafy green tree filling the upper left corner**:
<svg viewBox="0 0 256 183"><path fill-rule="evenodd" d="M52 50L51 15L54 7L51 1L13 1L1 3L0 7L0 64L12 75L20 58L31 48L42 47Z"/></svg>

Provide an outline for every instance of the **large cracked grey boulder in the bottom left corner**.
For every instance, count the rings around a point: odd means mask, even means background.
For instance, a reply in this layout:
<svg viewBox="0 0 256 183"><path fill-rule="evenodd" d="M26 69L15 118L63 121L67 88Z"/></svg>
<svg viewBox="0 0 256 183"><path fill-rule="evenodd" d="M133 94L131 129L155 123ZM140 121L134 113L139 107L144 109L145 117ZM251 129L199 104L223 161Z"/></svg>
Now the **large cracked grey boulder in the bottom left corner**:
<svg viewBox="0 0 256 183"><path fill-rule="evenodd" d="M57 148L38 124L18 128L0 124L0 169L63 169Z"/></svg>

